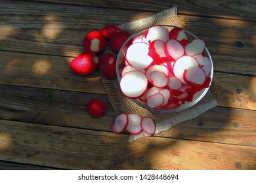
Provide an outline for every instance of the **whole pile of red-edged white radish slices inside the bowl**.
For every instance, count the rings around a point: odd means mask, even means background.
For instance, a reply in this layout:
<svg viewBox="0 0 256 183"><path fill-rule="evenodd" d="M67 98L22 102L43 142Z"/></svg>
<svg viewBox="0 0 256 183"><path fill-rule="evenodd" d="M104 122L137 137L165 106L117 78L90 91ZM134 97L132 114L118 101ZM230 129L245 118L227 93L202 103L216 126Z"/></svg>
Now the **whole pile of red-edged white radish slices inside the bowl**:
<svg viewBox="0 0 256 183"><path fill-rule="evenodd" d="M211 83L212 63L201 39L188 41L180 27L161 25L133 39L125 53L120 88L149 108L178 108ZM123 52L124 53L124 52Z"/></svg>

